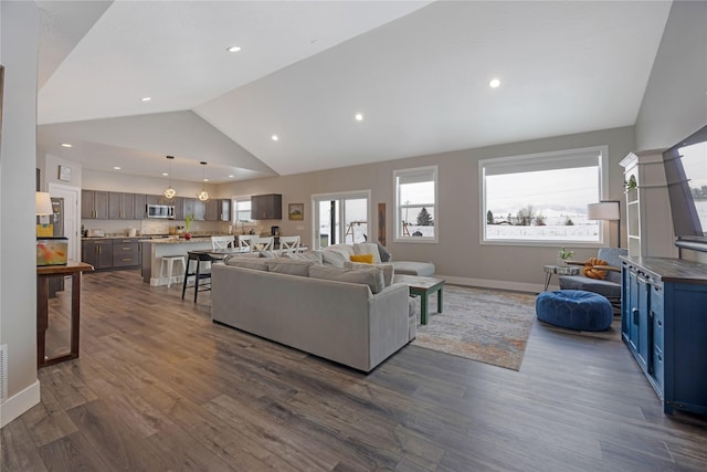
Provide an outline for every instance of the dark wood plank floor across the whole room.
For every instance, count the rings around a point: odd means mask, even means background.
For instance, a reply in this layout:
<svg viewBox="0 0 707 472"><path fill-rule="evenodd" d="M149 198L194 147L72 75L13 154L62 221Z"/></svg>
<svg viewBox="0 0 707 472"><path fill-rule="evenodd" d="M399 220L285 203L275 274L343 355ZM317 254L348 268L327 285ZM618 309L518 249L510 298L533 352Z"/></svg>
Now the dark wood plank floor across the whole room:
<svg viewBox="0 0 707 472"><path fill-rule="evenodd" d="M665 417L618 338L536 323L520 371L407 346L365 376L180 290L84 275L81 358L39 371L0 470L707 470L704 418Z"/></svg>

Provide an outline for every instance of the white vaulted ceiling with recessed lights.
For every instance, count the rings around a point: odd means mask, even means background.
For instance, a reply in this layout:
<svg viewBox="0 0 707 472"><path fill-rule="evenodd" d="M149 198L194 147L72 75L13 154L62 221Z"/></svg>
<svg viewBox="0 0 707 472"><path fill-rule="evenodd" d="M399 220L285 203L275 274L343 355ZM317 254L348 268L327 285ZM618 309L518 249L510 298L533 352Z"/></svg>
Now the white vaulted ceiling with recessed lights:
<svg viewBox="0 0 707 472"><path fill-rule="evenodd" d="M671 8L36 3L39 151L213 182L633 125Z"/></svg>

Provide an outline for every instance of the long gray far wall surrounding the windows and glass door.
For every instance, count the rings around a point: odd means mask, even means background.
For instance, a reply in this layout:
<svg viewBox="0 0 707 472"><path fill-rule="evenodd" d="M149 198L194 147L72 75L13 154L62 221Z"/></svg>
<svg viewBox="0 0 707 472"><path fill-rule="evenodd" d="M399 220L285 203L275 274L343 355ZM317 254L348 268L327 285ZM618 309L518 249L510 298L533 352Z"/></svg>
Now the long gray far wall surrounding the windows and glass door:
<svg viewBox="0 0 707 472"><path fill-rule="evenodd" d="M235 182L221 186L221 197L251 193L282 193L283 207L288 203L305 203L305 221L279 222L284 234L300 234L307 244L312 244L313 193L346 192L371 190L371 211L377 234L376 208L378 203L387 206L388 248L398 260L434 261L437 273L450 281L475 285L489 285L516 290L538 290L544 282L542 265L556 262L559 245L514 247L479 243L481 214L478 191L478 160L492 157L517 156L534 153L581 148L589 146L609 146L609 198L623 200L623 168L619 161L634 150L633 127L609 129L578 135L537 139L525 143L507 144L479 149L467 149L441 155L421 156L381 164L348 167L341 169L309 172L295 176ZM393 227L393 176L395 169L420 166L439 166L439 207L435 218L439 224L439 243L395 243L392 242ZM297 227L304 225L303 230ZM615 228L610 231L616 244ZM625 237L625 231L623 232ZM623 243L625 245L625 242ZM577 256L597 255L597 248L578 249Z"/></svg>

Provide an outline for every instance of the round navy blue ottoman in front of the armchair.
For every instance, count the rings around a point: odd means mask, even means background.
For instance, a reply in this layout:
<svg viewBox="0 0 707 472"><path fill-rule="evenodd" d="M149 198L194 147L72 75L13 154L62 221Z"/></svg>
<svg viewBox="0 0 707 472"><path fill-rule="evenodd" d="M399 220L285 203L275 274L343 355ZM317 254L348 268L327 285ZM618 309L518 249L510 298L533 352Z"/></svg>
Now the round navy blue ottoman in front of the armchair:
<svg viewBox="0 0 707 472"><path fill-rule="evenodd" d="M606 331L614 318L606 297L582 290L542 292L535 301L535 312L542 322L579 331Z"/></svg>

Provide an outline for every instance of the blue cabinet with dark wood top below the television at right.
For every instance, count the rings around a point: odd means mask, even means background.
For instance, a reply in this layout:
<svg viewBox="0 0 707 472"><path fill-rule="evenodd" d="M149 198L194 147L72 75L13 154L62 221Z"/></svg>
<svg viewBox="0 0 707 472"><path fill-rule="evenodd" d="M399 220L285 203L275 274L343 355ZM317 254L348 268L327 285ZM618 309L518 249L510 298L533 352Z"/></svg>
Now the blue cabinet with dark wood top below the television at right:
<svg viewBox="0 0 707 472"><path fill-rule="evenodd" d="M622 260L624 343L666 413L707 415L707 264Z"/></svg>

